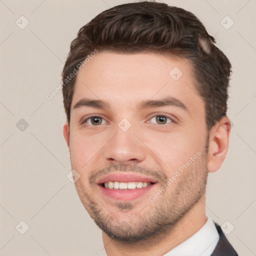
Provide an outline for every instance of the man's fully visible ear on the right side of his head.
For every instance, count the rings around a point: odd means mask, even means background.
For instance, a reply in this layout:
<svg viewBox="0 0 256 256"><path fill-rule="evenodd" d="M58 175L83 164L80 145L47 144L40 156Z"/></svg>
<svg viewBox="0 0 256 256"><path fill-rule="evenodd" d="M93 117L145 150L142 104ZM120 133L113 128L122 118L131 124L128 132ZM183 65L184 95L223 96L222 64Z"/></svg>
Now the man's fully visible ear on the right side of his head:
<svg viewBox="0 0 256 256"><path fill-rule="evenodd" d="M228 117L222 117L210 130L208 144L208 171L218 170L224 161L228 149L231 130Z"/></svg>

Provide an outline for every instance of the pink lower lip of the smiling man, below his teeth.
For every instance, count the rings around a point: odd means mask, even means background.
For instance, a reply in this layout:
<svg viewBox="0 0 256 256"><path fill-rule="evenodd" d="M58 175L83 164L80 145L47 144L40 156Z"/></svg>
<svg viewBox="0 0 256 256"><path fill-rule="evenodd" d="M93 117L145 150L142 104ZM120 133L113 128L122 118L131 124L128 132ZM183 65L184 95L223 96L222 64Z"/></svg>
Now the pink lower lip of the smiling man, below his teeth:
<svg viewBox="0 0 256 256"><path fill-rule="evenodd" d="M154 185L155 183L146 187L134 188L134 189L114 189L114 188L105 188L102 185L98 185L98 186L104 195L117 200L128 201L128 200L134 200L138 197L143 196L145 193L151 190L151 188Z"/></svg>

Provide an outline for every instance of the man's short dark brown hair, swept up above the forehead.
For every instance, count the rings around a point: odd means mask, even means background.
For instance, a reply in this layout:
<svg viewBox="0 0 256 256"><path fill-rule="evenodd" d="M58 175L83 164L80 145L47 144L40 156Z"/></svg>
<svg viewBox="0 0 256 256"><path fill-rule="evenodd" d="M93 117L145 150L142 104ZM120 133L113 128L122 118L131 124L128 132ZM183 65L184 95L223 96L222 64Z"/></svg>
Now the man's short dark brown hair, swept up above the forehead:
<svg viewBox="0 0 256 256"><path fill-rule="evenodd" d="M75 78L65 80L87 55L97 50L122 53L169 53L187 58L205 105L208 129L226 115L231 64L191 12L165 3L142 1L102 11L81 27L71 42L62 71L63 103L68 123Z"/></svg>

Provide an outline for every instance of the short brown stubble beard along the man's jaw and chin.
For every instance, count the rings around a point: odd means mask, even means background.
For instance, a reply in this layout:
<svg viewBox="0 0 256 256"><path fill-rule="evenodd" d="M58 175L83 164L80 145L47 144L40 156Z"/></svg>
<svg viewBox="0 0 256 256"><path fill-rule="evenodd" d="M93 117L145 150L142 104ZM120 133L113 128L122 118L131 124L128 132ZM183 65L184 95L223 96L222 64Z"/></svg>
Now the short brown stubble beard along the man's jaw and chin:
<svg viewBox="0 0 256 256"><path fill-rule="evenodd" d="M146 198L144 208L135 216L131 214L132 217L127 221L114 217L79 179L75 187L83 206L97 226L110 238L131 244L148 238L158 240L170 232L205 193L207 173L207 153L203 152L154 202ZM152 194L164 183L158 183L160 186ZM135 206L132 202L119 202L116 203L116 211L127 214L135 211Z"/></svg>

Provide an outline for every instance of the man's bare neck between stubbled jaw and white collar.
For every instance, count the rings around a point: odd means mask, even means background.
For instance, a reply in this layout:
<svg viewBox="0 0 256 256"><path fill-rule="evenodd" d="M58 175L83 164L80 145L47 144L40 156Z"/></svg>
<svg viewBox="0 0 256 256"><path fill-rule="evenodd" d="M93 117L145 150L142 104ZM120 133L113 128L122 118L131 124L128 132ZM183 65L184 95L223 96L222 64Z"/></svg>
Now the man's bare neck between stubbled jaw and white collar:
<svg viewBox="0 0 256 256"><path fill-rule="evenodd" d="M102 232L104 248L107 256L163 255L198 231L206 220L205 196L202 196L166 233L134 244L124 244Z"/></svg>

